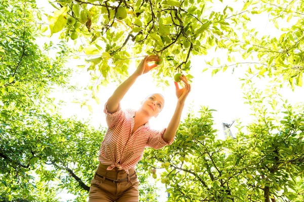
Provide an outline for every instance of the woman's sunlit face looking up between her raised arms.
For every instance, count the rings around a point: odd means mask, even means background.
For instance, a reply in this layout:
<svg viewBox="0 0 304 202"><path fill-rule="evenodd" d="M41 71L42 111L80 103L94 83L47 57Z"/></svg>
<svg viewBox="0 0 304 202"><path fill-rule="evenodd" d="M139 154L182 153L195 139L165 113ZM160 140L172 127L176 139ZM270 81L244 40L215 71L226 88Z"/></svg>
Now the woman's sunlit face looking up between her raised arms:
<svg viewBox="0 0 304 202"><path fill-rule="evenodd" d="M146 110L150 116L157 117L164 108L164 104L164 97L161 94L155 93L146 97L141 108Z"/></svg>

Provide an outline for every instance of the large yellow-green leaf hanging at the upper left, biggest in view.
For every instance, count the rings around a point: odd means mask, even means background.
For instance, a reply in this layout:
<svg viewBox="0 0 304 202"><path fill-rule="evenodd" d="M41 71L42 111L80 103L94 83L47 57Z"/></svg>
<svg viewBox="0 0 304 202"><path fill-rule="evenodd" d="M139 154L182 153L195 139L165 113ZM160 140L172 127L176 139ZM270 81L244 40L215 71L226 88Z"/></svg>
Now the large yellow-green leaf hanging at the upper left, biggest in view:
<svg viewBox="0 0 304 202"><path fill-rule="evenodd" d="M62 7L54 12L54 16L49 20L51 36L63 29L67 22L67 7Z"/></svg>

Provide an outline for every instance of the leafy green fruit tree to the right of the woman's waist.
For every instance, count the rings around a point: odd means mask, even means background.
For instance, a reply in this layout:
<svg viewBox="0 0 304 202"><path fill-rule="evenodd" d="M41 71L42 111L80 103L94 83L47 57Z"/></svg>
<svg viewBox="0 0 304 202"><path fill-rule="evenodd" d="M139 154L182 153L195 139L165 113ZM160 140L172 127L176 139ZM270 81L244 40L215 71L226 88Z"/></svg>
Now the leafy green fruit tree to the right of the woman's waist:
<svg viewBox="0 0 304 202"><path fill-rule="evenodd" d="M245 132L239 123L236 139L216 138L214 110L202 107L198 117L188 114L172 145L146 151L146 170L157 169L157 180L170 179L168 201L303 200L304 106L276 103L253 84L250 89L255 119Z"/></svg>

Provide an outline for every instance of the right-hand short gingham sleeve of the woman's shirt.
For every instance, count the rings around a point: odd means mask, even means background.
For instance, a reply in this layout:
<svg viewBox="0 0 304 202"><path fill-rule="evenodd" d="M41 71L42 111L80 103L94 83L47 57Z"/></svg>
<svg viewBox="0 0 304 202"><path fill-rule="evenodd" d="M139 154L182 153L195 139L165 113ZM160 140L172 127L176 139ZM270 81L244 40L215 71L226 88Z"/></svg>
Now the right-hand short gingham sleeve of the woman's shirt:
<svg viewBox="0 0 304 202"><path fill-rule="evenodd" d="M170 142L165 142L163 139L163 135L167 128L163 130L150 130L150 136L146 147L153 147L155 149L161 149L166 145L171 145L174 141L174 138Z"/></svg>

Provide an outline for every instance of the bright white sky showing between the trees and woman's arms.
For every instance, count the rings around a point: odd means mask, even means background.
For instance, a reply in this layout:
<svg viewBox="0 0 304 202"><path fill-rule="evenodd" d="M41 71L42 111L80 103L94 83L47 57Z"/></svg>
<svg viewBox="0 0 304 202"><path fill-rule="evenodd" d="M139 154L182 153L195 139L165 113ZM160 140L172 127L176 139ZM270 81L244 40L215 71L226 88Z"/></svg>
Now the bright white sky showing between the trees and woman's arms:
<svg viewBox="0 0 304 202"><path fill-rule="evenodd" d="M241 7L236 8L237 3L231 4L231 1L223 1L214 6L218 11L222 11L226 6L225 2L229 2L230 6L234 8L234 11L241 11ZM37 1L37 4L40 8L45 8L45 11L49 12L50 5L46 1ZM239 4L239 5L243 5ZM213 8L213 10L214 10ZM53 8L52 8L53 9ZM280 36L282 32L275 29L274 25L271 22L268 22L267 15L254 15L251 17L251 22L248 23L248 27L256 28L259 31L258 37L262 35L272 35L272 36ZM286 24L286 23L285 23ZM280 24L280 27L284 26L284 24ZM37 40L40 45L43 45L44 42L48 40L58 41L58 34L54 34L50 39L42 38ZM72 45L72 43L71 43ZM239 81L240 77L244 77L244 72L247 68L244 66L243 68L235 68L234 73L232 74L233 67L229 67L226 72L222 73L222 71L218 72L215 76L211 77L212 68L204 73L202 70L207 66L205 65L205 61L210 61L213 57L218 57L222 55L221 65L226 63L227 54L224 51L218 49L216 53L214 53L214 49L208 51L207 56L192 56L191 64L192 69L189 74L195 76L193 79L192 91L189 93L184 110L182 113L181 120L185 118L188 113L188 109L193 106L193 110L195 112L200 110L200 106L209 106L210 109L215 109L217 112L213 112L215 128L218 129L218 137L223 138L223 131L221 128L222 122L231 123L232 120L241 119L243 124L249 123L250 110L249 105L244 104L245 99L243 98L243 93L241 89L241 81ZM80 61L73 61L67 63L66 65L70 66L73 69L78 69L77 65L84 64L84 57L81 57ZM215 60L216 61L216 60ZM243 61L242 58L236 58L236 62ZM135 62L135 61L134 61ZM214 66L217 65L214 62ZM135 64L130 66L129 74L132 74L135 70ZM75 74L71 80L71 83L79 83L81 86L85 86L90 82L90 76L86 72L86 68L81 74ZM157 71L157 69L153 70ZM173 76L173 75L172 75ZM265 80L256 80L258 81L258 86L263 87L265 84ZM81 109L80 104L71 103L72 99L75 97L83 97L83 92L78 93L67 93L65 91L55 91L52 93L52 96L56 98L56 102L59 102L59 99L64 100L66 102L66 106L62 108L61 113L64 117L68 118L75 115L80 120L91 119L91 124L94 126L99 126L100 124L106 127L105 116L103 114L104 103L107 98L112 94L112 92L116 89L118 84L109 84L107 87L100 87L99 94L97 95L100 99L100 105L97 105L95 100L92 100L91 105L93 107L93 114L90 114L88 109L84 107ZM142 75L135 84L128 91L124 99L122 100L123 108L135 108L139 107L140 101L145 98L150 93L160 92L165 96L165 108L162 113L156 119L152 119L150 121L151 127L156 129L162 129L167 127L170 122L170 119L174 113L177 98L175 95L175 86L173 84L173 78L171 82L171 86L167 87L164 91L162 88L157 88L156 83L153 82L153 78L151 74ZM304 100L304 88L295 87L295 90L292 90L289 87L285 87L280 90L280 94L283 95L283 98L288 98L289 103L295 104L297 102L303 102ZM233 134L236 133L236 129L232 127ZM99 148L96 148L96 151ZM94 171L92 171L94 172ZM151 180L152 182L154 181ZM159 201L166 201L167 193L165 192L165 187L163 184L157 183L159 187L162 187L161 195L162 197ZM72 198L67 195L62 194L62 199Z"/></svg>

